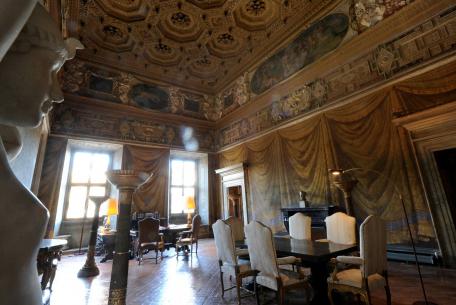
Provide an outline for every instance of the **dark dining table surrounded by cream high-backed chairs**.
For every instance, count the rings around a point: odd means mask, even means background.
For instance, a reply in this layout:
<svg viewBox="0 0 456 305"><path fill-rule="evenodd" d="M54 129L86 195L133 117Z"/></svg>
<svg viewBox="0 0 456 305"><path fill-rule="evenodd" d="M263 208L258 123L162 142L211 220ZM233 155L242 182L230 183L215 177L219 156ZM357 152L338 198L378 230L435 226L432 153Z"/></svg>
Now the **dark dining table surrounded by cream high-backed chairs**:
<svg viewBox="0 0 456 305"><path fill-rule="evenodd" d="M245 242L237 242L238 247L248 247ZM274 237L277 257L295 256L301 259L304 267L311 269L310 284L314 290L311 304L330 304L328 299L327 278L330 273L328 265L331 258L347 255L358 250L357 244L337 244L322 240L301 240L289 236Z"/></svg>

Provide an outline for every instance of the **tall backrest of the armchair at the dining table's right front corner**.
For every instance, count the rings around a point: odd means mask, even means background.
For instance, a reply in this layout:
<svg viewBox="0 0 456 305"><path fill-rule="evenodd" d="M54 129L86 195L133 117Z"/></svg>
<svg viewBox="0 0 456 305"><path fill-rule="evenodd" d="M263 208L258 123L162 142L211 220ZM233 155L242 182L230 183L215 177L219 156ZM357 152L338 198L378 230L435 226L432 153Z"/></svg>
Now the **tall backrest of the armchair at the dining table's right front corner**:
<svg viewBox="0 0 456 305"><path fill-rule="evenodd" d="M387 270L386 226L378 216L369 215L359 228L361 268L364 277Z"/></svg>

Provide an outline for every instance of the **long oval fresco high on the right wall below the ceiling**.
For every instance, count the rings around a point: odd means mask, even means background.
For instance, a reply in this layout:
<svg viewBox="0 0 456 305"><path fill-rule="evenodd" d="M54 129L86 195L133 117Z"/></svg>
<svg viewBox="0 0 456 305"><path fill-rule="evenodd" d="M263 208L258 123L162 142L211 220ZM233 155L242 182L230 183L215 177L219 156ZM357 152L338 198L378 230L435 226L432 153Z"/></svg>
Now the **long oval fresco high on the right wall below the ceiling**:
<svg viewBox="0 0 456 305"><path fill-rule="evenodd" d="M337 48L348 26L349 17L342 13L317 21L258 67L250 82L251 91L260 94Z"/></svg>

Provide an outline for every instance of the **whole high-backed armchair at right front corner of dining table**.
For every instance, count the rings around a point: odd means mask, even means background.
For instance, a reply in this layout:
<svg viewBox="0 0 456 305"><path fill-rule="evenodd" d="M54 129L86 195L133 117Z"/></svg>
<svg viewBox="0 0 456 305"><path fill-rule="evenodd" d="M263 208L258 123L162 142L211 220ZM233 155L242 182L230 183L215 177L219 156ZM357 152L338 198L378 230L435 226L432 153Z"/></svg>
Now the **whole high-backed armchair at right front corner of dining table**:
<svg viewBox="0 0 456 305"><path fill-rule="evenodd" d="M384 287L388 305L391 293L388 284L386 261L385 223L370 215L360 227L360 256L338 256L332 259L335 269L328 278L328 297L333 304L332 292L352 292L361 295L367 305L371 304L370 292ZM338 263L357 265L359 268L339 270Z"/></svg>

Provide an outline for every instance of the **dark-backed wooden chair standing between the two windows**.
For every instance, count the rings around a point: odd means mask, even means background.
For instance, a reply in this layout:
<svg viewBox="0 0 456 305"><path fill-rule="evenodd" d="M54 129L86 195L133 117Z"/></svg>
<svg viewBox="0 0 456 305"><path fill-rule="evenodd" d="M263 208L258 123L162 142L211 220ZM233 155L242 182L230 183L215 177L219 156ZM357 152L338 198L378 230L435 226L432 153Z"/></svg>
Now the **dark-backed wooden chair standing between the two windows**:
<svg viewBox="0 0 456 305"><path fill-rule="evenodd" d="M155 263L158 263L158 251L163 259L165 244L163 234L160 231L160 220L155 218L144 218L138 222L138 265L141 265L145 250L155 250Z"/></svg>

